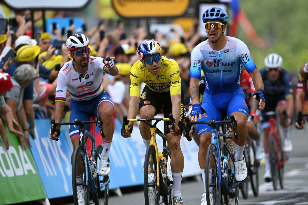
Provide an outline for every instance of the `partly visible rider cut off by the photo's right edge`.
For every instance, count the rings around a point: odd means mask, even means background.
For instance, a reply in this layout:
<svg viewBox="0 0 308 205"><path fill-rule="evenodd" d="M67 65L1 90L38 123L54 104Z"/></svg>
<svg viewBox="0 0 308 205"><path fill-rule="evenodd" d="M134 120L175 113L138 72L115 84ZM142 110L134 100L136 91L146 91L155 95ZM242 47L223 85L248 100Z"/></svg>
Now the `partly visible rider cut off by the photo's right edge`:
<svg viewBox="0 0 308 205"><path fill-rule="evenodd" d="M295 95L295 109L297 113L303 110L307 80L308 80L308 62L304 64L298 72L298 83ZM306 113L308 113L308 104L306 104ZM304 121L302 119L301 121L302 121L301 125L298 124L298 120L295 122L296 128L298 129L304 128Z"/></svg>

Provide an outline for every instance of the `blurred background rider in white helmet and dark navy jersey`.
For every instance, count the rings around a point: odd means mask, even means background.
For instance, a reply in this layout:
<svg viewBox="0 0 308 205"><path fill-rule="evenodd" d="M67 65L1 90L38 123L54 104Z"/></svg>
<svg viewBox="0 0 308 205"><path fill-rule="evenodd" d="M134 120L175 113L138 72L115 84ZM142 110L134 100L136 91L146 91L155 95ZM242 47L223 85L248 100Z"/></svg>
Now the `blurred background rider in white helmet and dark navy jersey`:
<svg viewBox="0 0 308 205"><path fill-rule="evenodd" d="M292 143L290 140L290 124L292 124L292 116L294 110L293 89L291 87L291 76L282 68L282 57L276 53L268 54L264 59L265 69L260 70L263 82L266 107L261 113L269 111L277 111L280 113L280 124L282 126L283 150L285 152L292 151ZM285 119L282 114L286 111L288 118ZM270 123L267 116L262 116L261 128L264 131L264 149L265 154L265 174L264 180L271 181L270 162L269 162L269 131Z"/></svg>

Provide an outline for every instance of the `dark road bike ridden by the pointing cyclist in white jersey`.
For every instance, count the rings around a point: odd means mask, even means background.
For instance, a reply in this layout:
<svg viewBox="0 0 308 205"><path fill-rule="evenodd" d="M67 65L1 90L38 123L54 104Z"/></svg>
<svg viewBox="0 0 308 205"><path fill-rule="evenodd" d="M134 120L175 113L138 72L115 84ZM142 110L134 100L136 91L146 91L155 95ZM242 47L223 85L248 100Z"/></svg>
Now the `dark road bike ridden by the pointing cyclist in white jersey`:
<svg viewBox="0 0 308 205"><path fill-rule="evenodd" d="M74 125L79 126L79 146L75 148L73 164L72 164L72 186L74 204L88 205L90 203L90 195L95 205L107 205L109 197L109 177L92 175L90 160L87 152L85 136L92 141L91 154L93 159L98 163L103 151L102 145L97 145L95 148L95 137L84 128L84 124L98 123L100 134L105 137L102 128L102 120L98 116L93 121L55 123L55 119L51 120L51 133L54 133L58 125ZM58 140L57 140L58 141ZM99 164L94 167L98 173ZM77 178L78 176L78 178ZM81 177L80 177L81 176ZM80 180L80 178L82 178Z"/></svg>

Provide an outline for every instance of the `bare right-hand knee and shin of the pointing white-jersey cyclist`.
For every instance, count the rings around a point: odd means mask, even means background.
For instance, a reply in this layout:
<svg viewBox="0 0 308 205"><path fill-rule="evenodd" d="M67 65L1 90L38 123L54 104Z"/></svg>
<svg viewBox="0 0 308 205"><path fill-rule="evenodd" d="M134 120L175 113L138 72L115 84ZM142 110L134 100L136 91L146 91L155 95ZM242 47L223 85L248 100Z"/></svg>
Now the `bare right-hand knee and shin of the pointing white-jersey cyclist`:
<svg viewBox="0 0 308 205"><path fill-rule="evenodd" d="M98 106L98 114L103 120L103 132L105 138L103 140L112 140L113 132L115 130L115 125L112 118L113 105L110 103L102 103Z"/></svg>

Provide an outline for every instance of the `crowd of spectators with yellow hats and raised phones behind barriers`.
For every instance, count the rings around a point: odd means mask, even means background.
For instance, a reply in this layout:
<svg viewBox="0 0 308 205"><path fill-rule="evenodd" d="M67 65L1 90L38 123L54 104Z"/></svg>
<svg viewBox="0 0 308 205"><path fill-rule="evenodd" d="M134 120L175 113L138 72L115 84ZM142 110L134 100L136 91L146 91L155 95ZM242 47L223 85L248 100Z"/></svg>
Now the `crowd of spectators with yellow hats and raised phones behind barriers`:
<svg viewBox="0 0 308 205"><path fill-rule="evenodd" d="M67 35L55 28L52 33L40 33L36 41L32 38L32 22L28 19L29 13L16 12L17 25L8 25L6 34L0 34L0 60L11 49L16 52L5 63L0 61L0 135L6 149L9 145L2 121L11 133L18 136L23 149L26 149L26 143L31 146L29 137L36 137L34 119L53 117L57 76L63 65L71 60L64 43L62 46L54 45L55 41L66 41ZM41 21L40 16L34 19L36 23ZM106 74L102 80L104 89L115 104L114 117L121 120L127 114L130 69L139 60L137 46L147 38L161 42L163 55L177 61L185 96L189 96L190 52L201 41L199 30L193 28L181 36L174 29L170 38L158 31L149 34L141 26L128 34L124 27L124 22L118 21L115 28L107 32L105 23L100 23L84 32L90 39L91 56L115 57L119 75L111 77ZM68 31L74 34L75 25L72 24ZM70 112L69 94L64 110L66 114L63 117L66 118Z"/></svg>

